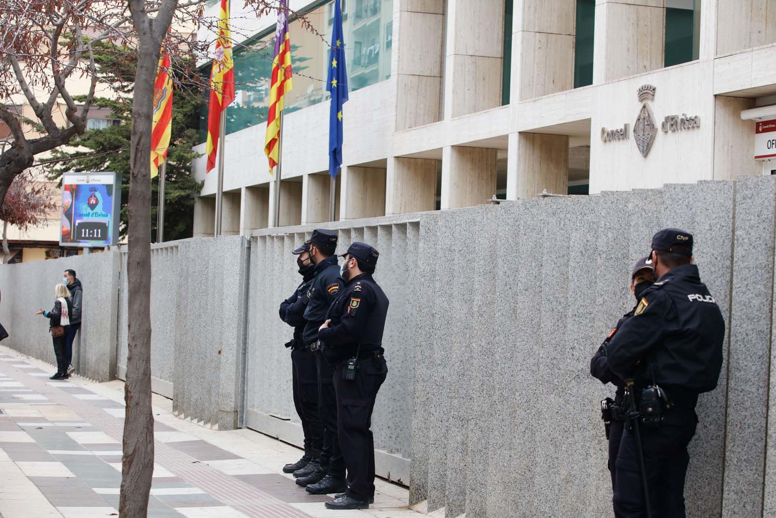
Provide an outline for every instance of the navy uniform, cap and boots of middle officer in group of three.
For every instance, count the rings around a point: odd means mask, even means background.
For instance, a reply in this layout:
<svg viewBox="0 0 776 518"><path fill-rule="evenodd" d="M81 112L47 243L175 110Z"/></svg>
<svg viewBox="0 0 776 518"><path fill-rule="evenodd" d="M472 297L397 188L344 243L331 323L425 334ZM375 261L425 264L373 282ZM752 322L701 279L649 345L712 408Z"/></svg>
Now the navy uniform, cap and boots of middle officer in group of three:
<svg viewBox="0 0 776 518"><path fill-rule="evenodd" d="M304 310L306 323L303 340L308 346L316 349L318 328L326 320L326 313L334 298L337 297L342 280L339 277L337 256L333 255L337 249L337 234L333 231L317 229L313 231L310 245L315 245L321 252L332 254L315 265L314 278L307 290L310 301ZM334 385L331 382L334 369L326 363L320 351L315 351L314 356L318 373L318 412L324 425L324 446L320 453L320 474L312 479L298 478L297 482L300 485L315 484L324 475L337 480L345 479L345 462L342 461L337 439L337 403L334 398Z"/></svg>

